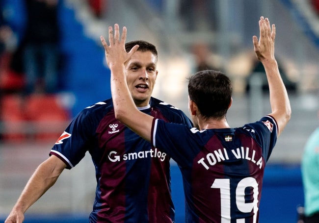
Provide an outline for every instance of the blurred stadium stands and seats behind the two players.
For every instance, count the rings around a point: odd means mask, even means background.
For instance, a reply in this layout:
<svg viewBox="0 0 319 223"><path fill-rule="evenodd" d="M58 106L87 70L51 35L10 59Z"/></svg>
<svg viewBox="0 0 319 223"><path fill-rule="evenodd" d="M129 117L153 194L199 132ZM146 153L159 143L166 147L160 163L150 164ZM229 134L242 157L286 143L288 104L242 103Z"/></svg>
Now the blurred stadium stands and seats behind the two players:
<svg viewBox="0 0 319 223"><path fill-rule="evenodd" d="M6 12L19 17L15 10L21 0L8 2ZM252 45L252 36L259 36L258 20L263 15L276 24L275 53L289 89L292 119L266 167L260 222L296 222L296 208L303 205L300 160L319 121L318 2L60 0L63 61L59 92L22 99L19 77L0 71L0 221L70 120L81 109L110 97L109 70L99 40L100 35L107 37L109 25L127 26L128 41L143 39L158 47L154 96L186 114L186 77L196 71L201 55L208 58L208 65L233 80L234 102L228 121L239 126L270 111ZM21 104L27 106L23 111ZM62 173L53 188L27 211L25 222L87 222L95 187L94 167L87 156L76 168ZM184 222L181 175L173 161L172 192L176 222Z"/></svg>

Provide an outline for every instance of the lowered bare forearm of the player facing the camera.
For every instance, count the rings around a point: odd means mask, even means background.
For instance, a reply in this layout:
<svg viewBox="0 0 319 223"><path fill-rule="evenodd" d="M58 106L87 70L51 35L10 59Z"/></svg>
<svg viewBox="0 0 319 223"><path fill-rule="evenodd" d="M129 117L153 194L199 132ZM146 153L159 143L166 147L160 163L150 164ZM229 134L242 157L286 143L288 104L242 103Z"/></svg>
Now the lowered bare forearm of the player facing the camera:
<svg viewBox="0 0 319 223"><path fill-rule="evenodd" d="M53 186L65 168L65 163L54 155L41 163L30 177L5 223L22 223L27 209Z"/></svg>

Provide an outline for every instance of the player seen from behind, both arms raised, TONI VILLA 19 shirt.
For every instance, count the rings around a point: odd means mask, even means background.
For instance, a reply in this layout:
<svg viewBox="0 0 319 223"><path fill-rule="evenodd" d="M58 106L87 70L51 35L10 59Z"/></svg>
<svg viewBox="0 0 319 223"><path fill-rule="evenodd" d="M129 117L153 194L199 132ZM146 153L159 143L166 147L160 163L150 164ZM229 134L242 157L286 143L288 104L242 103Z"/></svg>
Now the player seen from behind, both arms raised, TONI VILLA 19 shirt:
<svg viewBox="0 0 319 223"><path fill-rule="evenodd" d="M188 83L188 109L193 124L167 123L139 112L126 84L125 61L138 46L123 50L126 27L109 27L109 46L101 37L111 70L115 117L179 165L186 197L187 223L257 223L266 161L291 117L286 88L274 57L275 25L260 18L260 38L253 36L270 90L271 113L255 123L231 128L226 113L232 84L220 72L201 71ZM122 61L122 63L120 62Z"/></svg>

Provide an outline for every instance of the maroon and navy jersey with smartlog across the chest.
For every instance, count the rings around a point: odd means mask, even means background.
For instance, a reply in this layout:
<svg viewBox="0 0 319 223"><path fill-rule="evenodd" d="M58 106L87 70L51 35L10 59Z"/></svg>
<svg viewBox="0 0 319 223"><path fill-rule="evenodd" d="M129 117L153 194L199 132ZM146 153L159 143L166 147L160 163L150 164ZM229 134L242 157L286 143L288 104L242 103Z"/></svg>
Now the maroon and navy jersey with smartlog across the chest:
<svg viewBox="0 0 319 223"><path fill-rule="evenodd" d="M179 109L151 98L140 108L166 122L192 124ZM151 133L150 133L151 134ZM115 119L112 99L83 109L57 140L50 155L73 168L86 151L96 170L90 223L171 223L170 157Z"/></svg>

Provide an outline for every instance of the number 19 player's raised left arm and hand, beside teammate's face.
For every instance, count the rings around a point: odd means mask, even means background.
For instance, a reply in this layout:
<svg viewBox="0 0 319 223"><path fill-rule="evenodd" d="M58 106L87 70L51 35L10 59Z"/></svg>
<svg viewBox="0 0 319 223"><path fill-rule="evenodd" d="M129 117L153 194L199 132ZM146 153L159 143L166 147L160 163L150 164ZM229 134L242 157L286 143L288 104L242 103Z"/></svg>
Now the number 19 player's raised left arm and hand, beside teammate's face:
<svg viewBox="0 0 319 223"><path fill-rule="evenodd" d="M129 93L125 76L125 62L128 61L138 46L134 46L130 52L125 50L126 27L123 27L122 37L119 39L119 26L114 25L114 37L112 27L108 28L110 46L101 36L101 42L105 49L106 62L111 71L111 93L114 104L115 118L126 124L138 135L151 141L151 129L153 117L140 112Z"/></svg>

